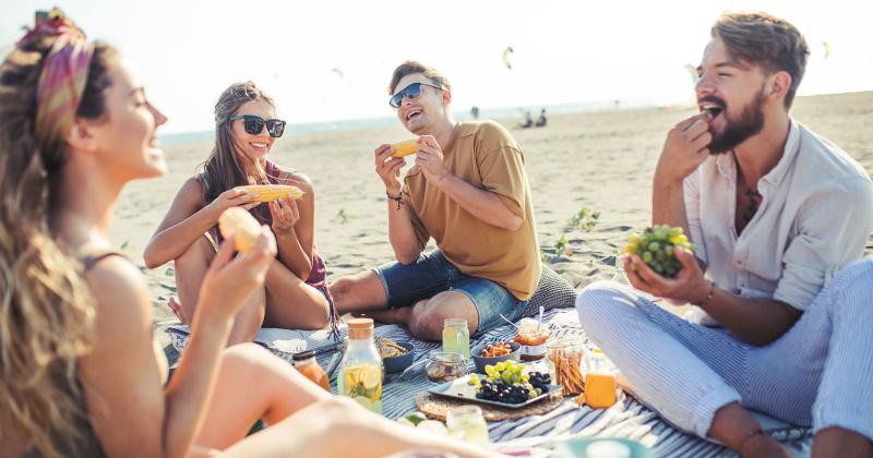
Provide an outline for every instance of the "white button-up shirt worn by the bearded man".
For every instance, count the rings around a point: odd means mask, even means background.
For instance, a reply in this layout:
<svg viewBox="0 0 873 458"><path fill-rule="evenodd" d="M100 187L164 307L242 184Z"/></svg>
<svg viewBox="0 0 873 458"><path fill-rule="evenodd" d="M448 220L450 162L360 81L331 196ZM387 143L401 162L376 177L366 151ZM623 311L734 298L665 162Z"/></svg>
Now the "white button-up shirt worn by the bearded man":
<svg viewBox="0 0 873 458"><path fill-rule="evenodd" d="M846 152L792 120L781 159L757 185L761 207L737 237L737 161L711 156L684 182L695 254L719 287L806 310L873 228L873 185Z"/></svg>

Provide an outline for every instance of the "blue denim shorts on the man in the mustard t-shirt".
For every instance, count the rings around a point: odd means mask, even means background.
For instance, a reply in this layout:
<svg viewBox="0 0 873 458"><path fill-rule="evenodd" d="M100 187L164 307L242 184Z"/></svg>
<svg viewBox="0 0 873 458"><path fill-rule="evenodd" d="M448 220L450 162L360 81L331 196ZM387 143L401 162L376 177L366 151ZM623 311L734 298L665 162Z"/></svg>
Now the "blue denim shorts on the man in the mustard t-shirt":
<svg viewBox="0 0 873 458"><path fill-rule="evenodd" d="M445 260L440 250L422 254L408 266L387 263L373 270L385 288L388 309L415 305L443 291L463 292L470 298L479 314L477 333L503 324L501 314L515 321L527 305L527 301L515 299L506 288L491 280L463 274Z"/></svg>

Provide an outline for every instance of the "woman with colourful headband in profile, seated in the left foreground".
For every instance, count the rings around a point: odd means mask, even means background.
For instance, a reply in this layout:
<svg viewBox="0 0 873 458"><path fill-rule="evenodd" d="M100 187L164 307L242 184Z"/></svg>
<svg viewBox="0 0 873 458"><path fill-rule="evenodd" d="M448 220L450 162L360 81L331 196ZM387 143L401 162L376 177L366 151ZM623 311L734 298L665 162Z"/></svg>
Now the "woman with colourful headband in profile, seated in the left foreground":
<svg viewBox="0 0 873 458"><path fill-rule="evenodd" d="M0 67L0 456L489 455L333 397L254 343L225 349L276 255L265 227L239 256L218 249L167 382L145 279L109 241L123 186L166 170L167 119L115 48L59 10L37 17ZM270 427L247 436L258 419Z"/></svg>

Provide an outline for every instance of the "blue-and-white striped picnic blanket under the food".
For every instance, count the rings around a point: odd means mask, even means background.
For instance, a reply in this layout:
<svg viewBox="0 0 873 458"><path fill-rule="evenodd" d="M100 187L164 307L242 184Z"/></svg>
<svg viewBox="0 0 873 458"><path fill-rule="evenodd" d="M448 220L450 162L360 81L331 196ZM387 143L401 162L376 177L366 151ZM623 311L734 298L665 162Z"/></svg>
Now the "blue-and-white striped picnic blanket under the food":
<svg viewBox="0 0 873 458"><path fill-rule="evenodd" d="M543 324L549 326L553 336L575 339L588 348L593 343L578 323L574 309L555 309L547 312ZM168 329L174 347L182 351L188 340L186 326L172 326ZM340 327L343 337L347 329ZM383 325L375 329L375 335L395 341L408 341L415 345L416 361L427 358L427 352L440 347L440 342L429 342L412 338L405 327ZM512 339L515 329L509 324L492 329L471 339L471 346L483 341ZM265 328L259 333L258 342L267 347L279 358L291 361L292 351L318 349L331 345L327 332L300 332ZM288 351L292 350L292 351ZM318 357L319 363L327 367L333 352ZM337 371L338 372L338 371ZM332 376L332 386L336 387L336 374ZM396 419L416 409L415 397L435 384L428 381L423 366L407 374L404 379L397 375L386 376L382 391L383 414ZM335 389L335 388L334 388ZM791 426L763 415L758 417L764 429L781 441L797 456L808 456L812 436L809 430ZM551 455L553 446L560 442L578 437L626 437L642 442L655 456L686 457L721 457L734 456L729 449L718 444L701 439L677 430L648 407L625 393L609 409L595 410L587 406L577 407L573 398L549 413L531 415L516 420L504 420L489 423L489 436L497 444L498 450L510 448L530 448L531 456Z"/></svg>

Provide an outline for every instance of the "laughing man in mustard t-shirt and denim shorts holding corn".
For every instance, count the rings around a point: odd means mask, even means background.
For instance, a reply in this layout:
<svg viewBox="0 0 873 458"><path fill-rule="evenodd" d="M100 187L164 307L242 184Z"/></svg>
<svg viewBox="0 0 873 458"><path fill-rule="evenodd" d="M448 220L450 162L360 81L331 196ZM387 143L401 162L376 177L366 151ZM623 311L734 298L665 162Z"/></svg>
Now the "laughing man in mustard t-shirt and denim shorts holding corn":
<svg viewBox="0 0 873 458"><path fill-rule="evenodd" d="M404 323L428 340L440 339L445 318L466 320L470 334L501 314L517 318L541 270L521 147L495 122L456 122L451 84L419 62L394 70L390 94L419 136L403 181L406 160L388 145L375 149L397 262L331 285L337 311ZM431 238L438 250L422 254Z"/></svg>

